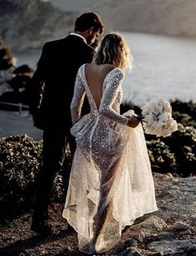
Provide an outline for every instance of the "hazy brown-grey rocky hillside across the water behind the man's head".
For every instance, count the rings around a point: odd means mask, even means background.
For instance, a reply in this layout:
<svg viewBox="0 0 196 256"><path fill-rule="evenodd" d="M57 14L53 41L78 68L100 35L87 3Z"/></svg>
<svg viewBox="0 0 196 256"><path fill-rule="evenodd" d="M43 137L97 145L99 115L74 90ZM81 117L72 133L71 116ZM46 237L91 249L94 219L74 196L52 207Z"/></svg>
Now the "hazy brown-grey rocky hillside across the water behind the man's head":
<svg viewBox="0 0 196 256"><path fill-rule="evenodd" d="M76 1L72 2L61 1L65 10L68 4L74 6ZM86 1L80 1L79 7L82 7L82 2ZM0 3L0 34L14 48L37 48L49 39L64 37L78 16L76 9L63 12L53 7L50 1L4 0ZM99 4L91 0L87 9L100 13L109 30L196 35L196 4L193 0L102 0Z"/></svg>

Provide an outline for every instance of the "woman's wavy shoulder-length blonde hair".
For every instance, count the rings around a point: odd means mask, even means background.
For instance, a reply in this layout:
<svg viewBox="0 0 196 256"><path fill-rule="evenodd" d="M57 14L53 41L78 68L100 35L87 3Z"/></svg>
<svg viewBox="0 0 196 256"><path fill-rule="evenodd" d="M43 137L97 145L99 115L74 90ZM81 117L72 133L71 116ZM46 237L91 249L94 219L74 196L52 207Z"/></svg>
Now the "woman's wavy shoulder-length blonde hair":
<svg viewBox="0 0 196 256"><path fill-rule="evenodd" d="M93 63L111 64L122 70L132 69L132 55L125 39L117 33L107 34L97 48Z"/></svg>

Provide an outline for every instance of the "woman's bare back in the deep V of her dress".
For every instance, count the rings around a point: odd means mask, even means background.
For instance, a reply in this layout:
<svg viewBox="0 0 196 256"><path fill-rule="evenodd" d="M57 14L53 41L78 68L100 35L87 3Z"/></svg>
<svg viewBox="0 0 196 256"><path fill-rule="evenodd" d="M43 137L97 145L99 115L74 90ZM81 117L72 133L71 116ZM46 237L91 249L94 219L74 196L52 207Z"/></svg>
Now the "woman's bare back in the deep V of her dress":
<svg viewBox="0 0 196 256"><path fill-rule="evenodd" d="M86 82L91 91L91 95L95 100L97 108L100 107L104 80L107 74L114 68L115 67L110 64L86 64Z"/></svg>

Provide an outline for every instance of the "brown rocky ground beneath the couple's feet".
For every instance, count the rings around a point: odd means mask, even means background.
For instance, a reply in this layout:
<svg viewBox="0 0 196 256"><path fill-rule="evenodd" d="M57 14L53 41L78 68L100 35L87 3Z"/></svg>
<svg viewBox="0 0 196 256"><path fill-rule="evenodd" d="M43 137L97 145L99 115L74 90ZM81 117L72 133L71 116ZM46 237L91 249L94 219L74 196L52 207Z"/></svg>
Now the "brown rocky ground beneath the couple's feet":
<svg viewBox="0 0 196 256"><path fill-rule="evenodd" d="M104 255L196 255L196 177L154 173L154 183L159 211L125 228L120 243ZM31 213L1 222L0 255L85 255L61 218L62 208L51 205L54 233L48 238L30 232Z"/></svg>

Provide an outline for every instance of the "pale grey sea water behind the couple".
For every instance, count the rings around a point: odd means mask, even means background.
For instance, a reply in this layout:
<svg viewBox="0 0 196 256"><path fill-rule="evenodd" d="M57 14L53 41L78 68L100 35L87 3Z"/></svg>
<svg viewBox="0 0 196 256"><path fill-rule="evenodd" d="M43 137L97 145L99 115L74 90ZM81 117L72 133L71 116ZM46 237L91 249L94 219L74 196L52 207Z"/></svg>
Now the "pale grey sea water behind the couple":
<svg viewBox="0 0 196 256"><path fill-rule="evenodd" d="M123 101L142 106L166 98L196 101L196 38L176 38L147 33L121 33L134 58L132 73L123 83ZM41 50L17 53L17 66L36 68Z"/></svg>

